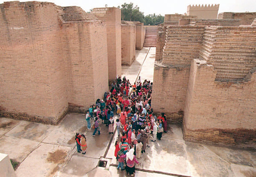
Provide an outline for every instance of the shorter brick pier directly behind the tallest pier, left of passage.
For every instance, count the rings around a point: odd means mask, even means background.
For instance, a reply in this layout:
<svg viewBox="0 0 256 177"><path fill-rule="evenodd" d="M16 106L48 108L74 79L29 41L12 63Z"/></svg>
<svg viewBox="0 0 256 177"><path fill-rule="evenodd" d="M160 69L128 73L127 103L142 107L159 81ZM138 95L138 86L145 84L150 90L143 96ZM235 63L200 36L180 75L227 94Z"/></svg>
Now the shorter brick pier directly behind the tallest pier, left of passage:
<svg viewBox="0 0 256 177"><path fill-rule="evenodd" d="M131 65L135 60L136 26L121 25L122 65Z"/></svg>

